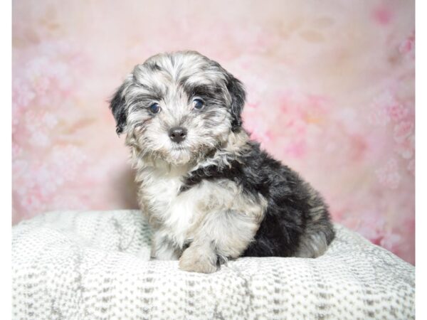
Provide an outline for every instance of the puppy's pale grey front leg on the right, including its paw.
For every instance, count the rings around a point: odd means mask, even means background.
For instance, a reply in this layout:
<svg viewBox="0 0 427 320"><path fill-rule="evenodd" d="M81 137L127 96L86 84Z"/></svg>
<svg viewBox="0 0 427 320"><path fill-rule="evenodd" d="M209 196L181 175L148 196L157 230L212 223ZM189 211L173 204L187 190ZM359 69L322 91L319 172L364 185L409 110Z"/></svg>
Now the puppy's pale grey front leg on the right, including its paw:
<svg viewBox="0 0 427 320"><path fill-rule="evenodd" d="M257 217L235 210L209 213L191 245L182 253L179 268L190 272L215 272L218 261L243 253L258 226Z"/></svg>

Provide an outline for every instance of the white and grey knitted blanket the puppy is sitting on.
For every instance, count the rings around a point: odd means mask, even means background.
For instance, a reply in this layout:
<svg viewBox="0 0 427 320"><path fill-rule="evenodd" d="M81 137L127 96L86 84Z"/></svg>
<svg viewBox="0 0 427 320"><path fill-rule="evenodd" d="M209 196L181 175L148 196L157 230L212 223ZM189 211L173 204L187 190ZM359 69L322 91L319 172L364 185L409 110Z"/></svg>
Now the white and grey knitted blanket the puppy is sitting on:
<svg viewBox="0 0 427 320"><path fill-rule="evenodd" d="M13 228L14 319L414 319L414 267L352 231L317 259L214 274L149 261L137 210L52 212Z"/></svg>

